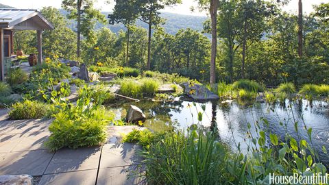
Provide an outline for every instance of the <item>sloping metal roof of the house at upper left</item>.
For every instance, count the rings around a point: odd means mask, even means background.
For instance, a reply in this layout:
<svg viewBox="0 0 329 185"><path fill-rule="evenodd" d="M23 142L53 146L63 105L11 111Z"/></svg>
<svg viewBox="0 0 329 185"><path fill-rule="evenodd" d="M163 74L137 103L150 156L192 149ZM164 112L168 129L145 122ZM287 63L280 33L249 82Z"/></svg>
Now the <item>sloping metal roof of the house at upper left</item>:
<svg viewBox="0 0 329 185"><path fill-rule="evenodd" d="M53 25L38 10L11 8L0 8L0 27L19 30L53 29Z"/></svg>

